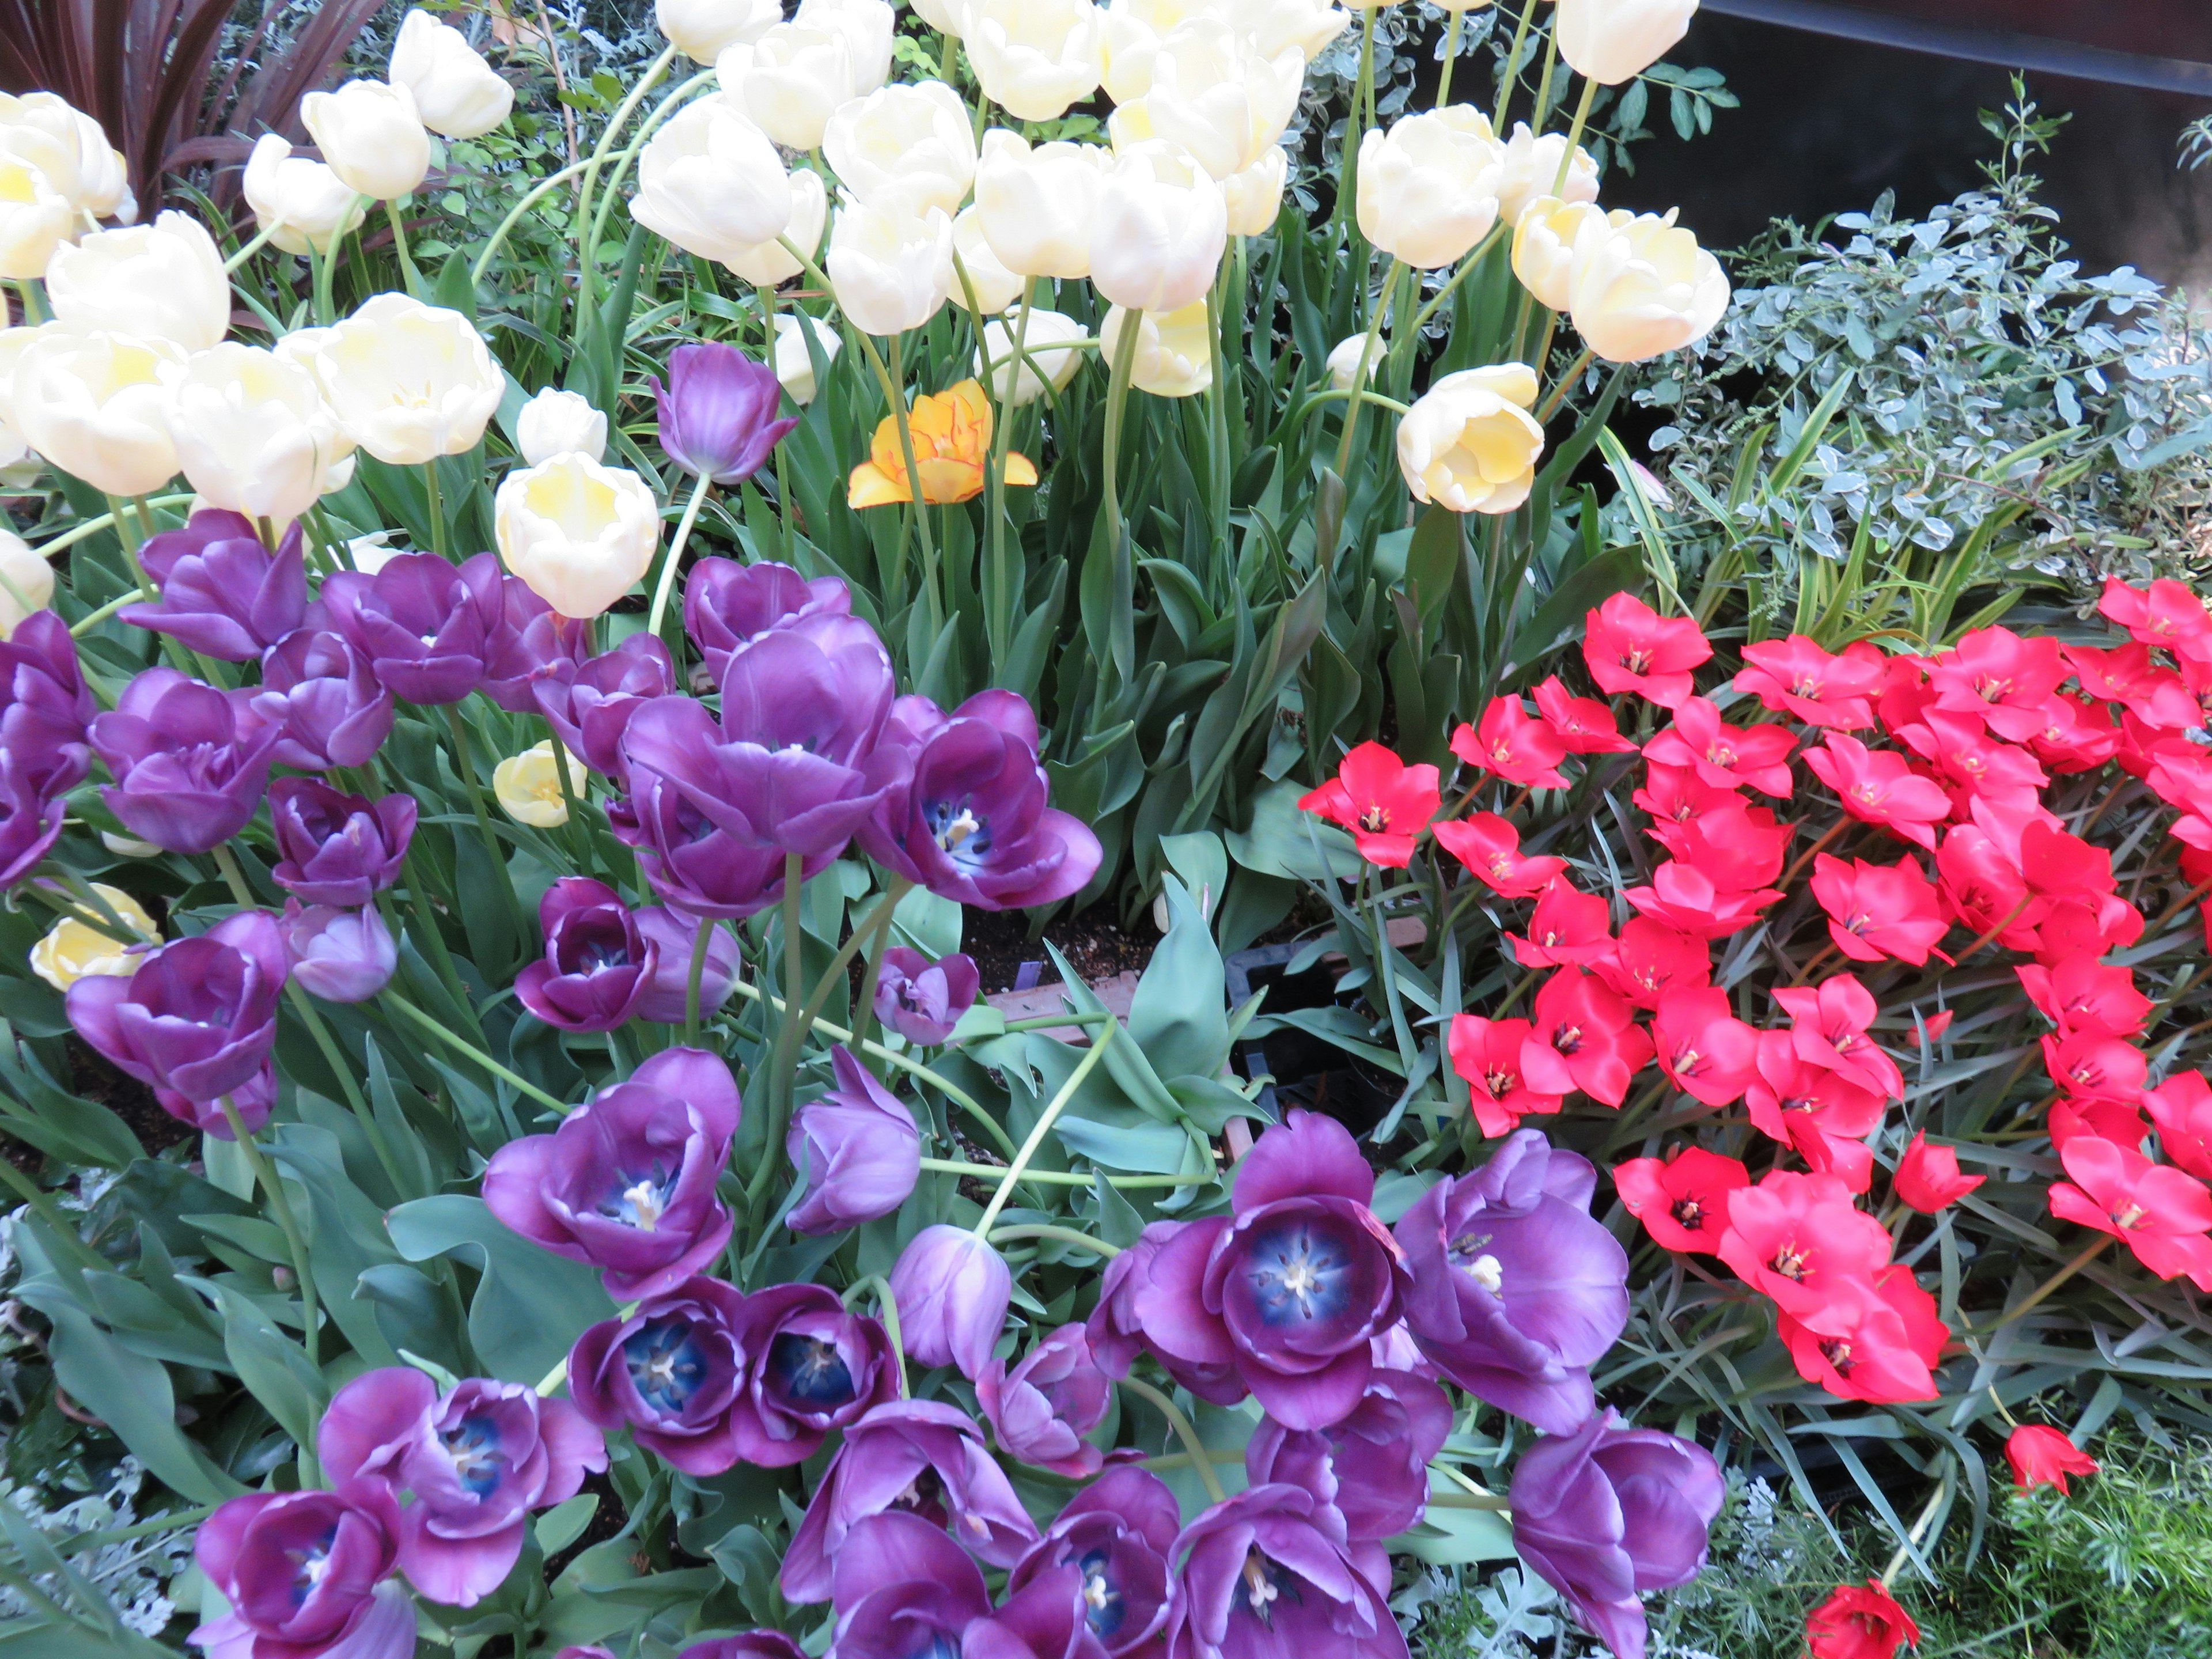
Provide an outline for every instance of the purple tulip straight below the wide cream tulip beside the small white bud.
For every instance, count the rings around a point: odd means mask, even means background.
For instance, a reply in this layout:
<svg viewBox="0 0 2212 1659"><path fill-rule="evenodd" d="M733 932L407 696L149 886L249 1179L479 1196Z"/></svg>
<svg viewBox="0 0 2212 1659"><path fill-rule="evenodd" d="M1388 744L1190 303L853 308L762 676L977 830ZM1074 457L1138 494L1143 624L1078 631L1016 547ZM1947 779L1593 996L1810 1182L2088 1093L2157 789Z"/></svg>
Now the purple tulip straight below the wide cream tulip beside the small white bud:
<svg viewBox="0 0 2212 1659"><path fill-rule="evenodd" d="M409 703L458 703L482 684L507 624L502 575L498 553L460 566L398 553L376 575L327 575L321 611L385 690Z"/></svg>

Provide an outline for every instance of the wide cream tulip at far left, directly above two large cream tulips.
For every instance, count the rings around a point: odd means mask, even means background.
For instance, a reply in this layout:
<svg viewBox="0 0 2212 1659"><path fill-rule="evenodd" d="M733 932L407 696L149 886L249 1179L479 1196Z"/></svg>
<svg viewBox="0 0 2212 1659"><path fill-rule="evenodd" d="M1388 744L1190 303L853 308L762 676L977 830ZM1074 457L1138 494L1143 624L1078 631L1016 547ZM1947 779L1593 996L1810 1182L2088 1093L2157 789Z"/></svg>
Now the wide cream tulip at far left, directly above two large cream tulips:
<svg viewBox="0 0 2212 1659"><path fill-rule="evenodd" d="M46 301L71 327L144 334L186 352L206 352L230 332L223 254L188 212L62 248L46 268Z"/></svg>

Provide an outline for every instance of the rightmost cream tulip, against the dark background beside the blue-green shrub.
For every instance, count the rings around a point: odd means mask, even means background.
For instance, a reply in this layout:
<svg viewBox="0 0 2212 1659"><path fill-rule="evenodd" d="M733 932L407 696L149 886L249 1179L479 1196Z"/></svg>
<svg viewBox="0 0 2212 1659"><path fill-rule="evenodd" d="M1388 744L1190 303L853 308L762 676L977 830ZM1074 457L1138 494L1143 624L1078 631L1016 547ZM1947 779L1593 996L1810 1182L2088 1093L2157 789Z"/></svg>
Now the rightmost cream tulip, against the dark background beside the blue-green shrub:
<svg viewBox="0 0 2212 1659"><path fill-rule="evenodd" d="M1728 274L1672 210L1590 215L1575 234L1566 310L1606 363L1641 363L1712 332Z"/></svg>

